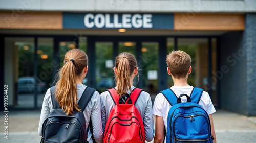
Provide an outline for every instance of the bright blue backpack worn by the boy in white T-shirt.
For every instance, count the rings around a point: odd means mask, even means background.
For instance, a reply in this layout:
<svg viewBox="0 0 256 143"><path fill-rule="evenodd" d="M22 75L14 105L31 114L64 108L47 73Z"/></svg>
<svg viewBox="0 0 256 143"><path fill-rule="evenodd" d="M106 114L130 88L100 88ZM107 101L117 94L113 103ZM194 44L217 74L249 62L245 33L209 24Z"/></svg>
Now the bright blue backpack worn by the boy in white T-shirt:
<svg viewBox="0 0 256 143"><path fill-rule="evenodd" d="M167 136L168 142L212 142L210 119L207 112L198 105L203 89L193 88L190 97L181 94L179 98L172 89L161 91L172 107L168 112ZM181 97L186 96L187 102L181 103Z"/></svg>

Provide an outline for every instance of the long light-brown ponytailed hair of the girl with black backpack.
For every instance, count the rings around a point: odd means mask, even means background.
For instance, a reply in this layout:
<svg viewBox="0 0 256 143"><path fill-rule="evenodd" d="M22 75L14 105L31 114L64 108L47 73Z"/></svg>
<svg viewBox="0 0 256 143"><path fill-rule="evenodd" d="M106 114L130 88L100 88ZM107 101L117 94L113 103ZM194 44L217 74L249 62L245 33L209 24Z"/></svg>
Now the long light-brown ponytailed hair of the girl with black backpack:
<svg viewBox="0 0 256 143"><path fill-rule="evenodd" d="M66 115L72 115L74 109L80 111L76 100L77 88L76 78L87 66L88 58L86 53L79 49L73 49L65 54L64 65L60 69L59 81L56 83L56 99L60 107L66 112Z"/></svg>

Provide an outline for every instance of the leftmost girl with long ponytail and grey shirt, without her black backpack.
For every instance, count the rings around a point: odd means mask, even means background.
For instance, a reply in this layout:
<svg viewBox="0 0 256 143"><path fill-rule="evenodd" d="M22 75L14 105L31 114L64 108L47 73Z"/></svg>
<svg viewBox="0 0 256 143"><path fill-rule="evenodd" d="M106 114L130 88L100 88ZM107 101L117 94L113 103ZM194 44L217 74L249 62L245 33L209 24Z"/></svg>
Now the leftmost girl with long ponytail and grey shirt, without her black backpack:
<svg viewBox="0 0 256 143"><path fill-rule="evenodd" d="M78 101L82 96L86 85L82 84L82 80L86 77L88 71L88 57L86 53L79 49L73 49L65 54L64 65L58 73L58 82L56 83L55 97L59 103L59 106L65 111L66 115L72 115L75 110L80 111L78 107ZM90 96L90 95L87 95ZM86 104L86 103L84 103ZM38 127L39 135L42 135L42 124L53 111L51 91L47 90L44 102L42 104L40 122ZM103 131L101 115L100 115L100 96L97 91L93 93L91 100L89 101L86 109L83 111L84 118L86 120L86 127L88 128L89 143L93 142L92 133L89 128L90 118L93 125L93 136L96 142L102 142Z"/></svg>

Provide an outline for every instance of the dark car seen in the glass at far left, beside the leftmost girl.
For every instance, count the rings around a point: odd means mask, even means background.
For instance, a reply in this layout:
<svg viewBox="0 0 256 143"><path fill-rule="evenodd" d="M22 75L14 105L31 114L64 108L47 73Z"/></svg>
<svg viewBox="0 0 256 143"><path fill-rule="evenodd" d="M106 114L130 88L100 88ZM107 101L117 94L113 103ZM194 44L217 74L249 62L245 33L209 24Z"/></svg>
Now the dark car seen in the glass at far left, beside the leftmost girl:
<svg viewBox="0 0 256 143"><path fill-rule="evenodd" d="M34 77L20 77L18 78L18 93L32 93L34 92L36 80ZM37 92L42 93L45 92L46 83L41 80L37 80Z"/></svg>

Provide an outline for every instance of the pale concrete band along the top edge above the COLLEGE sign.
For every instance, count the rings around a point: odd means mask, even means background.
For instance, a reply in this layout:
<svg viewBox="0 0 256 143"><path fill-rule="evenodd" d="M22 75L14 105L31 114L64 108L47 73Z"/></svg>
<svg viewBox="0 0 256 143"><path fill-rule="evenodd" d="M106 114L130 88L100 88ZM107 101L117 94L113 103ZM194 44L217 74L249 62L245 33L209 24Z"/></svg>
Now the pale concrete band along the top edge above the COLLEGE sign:
<svg viewBox="0 0 256 143"><path fill-rule="evenodd" d="M120 12L256 12L254 0L0 0L1 10Z"/></svg>

